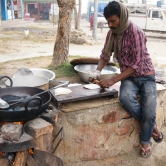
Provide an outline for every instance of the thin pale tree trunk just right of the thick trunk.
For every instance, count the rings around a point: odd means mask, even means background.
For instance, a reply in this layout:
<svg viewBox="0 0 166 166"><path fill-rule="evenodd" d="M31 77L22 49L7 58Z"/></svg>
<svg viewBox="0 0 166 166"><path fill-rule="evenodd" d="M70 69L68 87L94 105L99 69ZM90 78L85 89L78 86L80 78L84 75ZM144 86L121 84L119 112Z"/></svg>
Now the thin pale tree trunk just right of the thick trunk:
<svg viewBox="0 0 166 166"><path fill-rule="evenodd" d="M79 0L78 1L78 12L77 12L76 4L74 5L75 29L80 28L81 7L82 7L82 0Z"/></svg>

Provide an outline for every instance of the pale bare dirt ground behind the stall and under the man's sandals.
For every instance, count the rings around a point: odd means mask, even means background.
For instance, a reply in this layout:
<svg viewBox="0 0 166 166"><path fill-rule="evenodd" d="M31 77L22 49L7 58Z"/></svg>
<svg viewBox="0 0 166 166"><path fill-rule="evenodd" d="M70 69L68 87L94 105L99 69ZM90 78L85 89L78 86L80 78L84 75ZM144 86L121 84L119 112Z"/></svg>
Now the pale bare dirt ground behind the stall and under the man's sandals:
<svg viewBox="0 0 166 166"><path fill-rule="evenodd" d="M85 20L82 21L81 28L88 34L91 35L91 31L89 31L89 23L86 23ZM85 24L86 23L86 24ZM26 28L30 28L30 34L28 37L25 37L24 30ZM24 23L22 21L18 21L18 24L12 24L11 21L3 22L2 27L0 27L0 75L8 75L13 76L15 71L20 67L26 68L34 68L34 67L41 67L41 68L48 68L51 64L52 60L52 51L54 42L56 39L56 28L57 25L53 26L51 23L39 22L39 23ZM108 29L107 29L108 30ZM98 29L98 39L95 46L89 45L71 45L71 51L73 55L97 55L99 56L99 50L102 49L104 44L104 38L106 36L107 30L104 29L103 33L100 32ZM159 64L159 67L166 67L166 63L163 61L165 58L165 47L166 42L163 39L149 39L148 40L148 50L151 53L152 59L154 64ZM24 52L23 52L24 51ZM81 53L79 52L81 51ZM20 55L20 57L24 58L25 52L32 55L33 53L38 56L42 56L45 52L47 55L44 57L36 57L36 58L28 58L22 60L14 60L15 57ZM79 54L80 53L80 54ZM3 57L3 58L1 58ZM10 57L10 58L9 58ZM161 58L160 58L161 57ZM6 61L6 60L10 61ZM26 57L27 58L27 57ZM159 58L159 59L157 59ZM163 58L163 59L162 59ZM20 58L18 58L20 59ZM6 62L3 62L3 61ZM80 82L78 77L65 77L59 78L62 80L70 80L72 83ZM166 135L165 127L162 129L163 133ZM127 165L127 166L144 166L144 165L151 165L151 166L165 166L165 157L166 157L166 142L163 141L161 144L157 145L156 143L153 144L153 155L149 159L144 159L139 156L139 147L133 149L132 152L128 154L123 154L121 156L117 156L109 160L110 165Z"/></svg>

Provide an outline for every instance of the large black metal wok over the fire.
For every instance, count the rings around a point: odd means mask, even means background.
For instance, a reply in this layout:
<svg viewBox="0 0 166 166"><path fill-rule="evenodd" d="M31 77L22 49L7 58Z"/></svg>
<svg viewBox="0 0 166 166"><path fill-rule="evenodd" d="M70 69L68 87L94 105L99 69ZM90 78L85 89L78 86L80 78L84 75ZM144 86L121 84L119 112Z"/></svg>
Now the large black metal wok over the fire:
<svg viewBox="0 0 166 166"><path fill-rule="evenodd" d="M35 87L0 88L0 97L11 104L43 91ZM51 94L45 92L39 96L30 97L29 100L11 105L7 109L0 109L0 121L21 122L34 119L48 108L50 100Z"/></svg>

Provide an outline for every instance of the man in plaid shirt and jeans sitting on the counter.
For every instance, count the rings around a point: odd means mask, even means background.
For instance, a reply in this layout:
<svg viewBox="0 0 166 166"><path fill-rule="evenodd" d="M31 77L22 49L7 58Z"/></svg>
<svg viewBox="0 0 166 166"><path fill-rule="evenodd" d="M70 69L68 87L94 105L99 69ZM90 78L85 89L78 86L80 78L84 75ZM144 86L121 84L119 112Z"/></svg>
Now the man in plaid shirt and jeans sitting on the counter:
<svg viewBox="0 0 166 166"><path fill-rule="evenodd" d="M121 81L119 99L126 111L141 122L141 155L151 155L150 138L161 142L163 134L157 128L155 71L146 48L146 36L142 29L128 20L128 9L112 1L104 9L110 28L97 70L90 77L99 78L103 67L114 53L121 74L100 80L100 85L109 87ZM137 95L141 97L141 104Z"/></svg>

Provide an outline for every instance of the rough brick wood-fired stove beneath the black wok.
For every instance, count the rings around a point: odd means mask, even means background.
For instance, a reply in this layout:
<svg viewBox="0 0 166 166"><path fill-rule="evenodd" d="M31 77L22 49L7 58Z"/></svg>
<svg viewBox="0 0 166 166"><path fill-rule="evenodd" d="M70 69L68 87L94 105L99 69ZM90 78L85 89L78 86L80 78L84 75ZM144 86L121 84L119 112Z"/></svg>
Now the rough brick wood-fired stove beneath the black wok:
<svg viewBox="0 0 166 166"><path fill-rule="evenodd" d="M27 122L1 122L0 166L63 166L61 159L51 154L62 139L53 147L58 136L52 136L57 115L56 109L50 105L36 119Z"/></svg>

